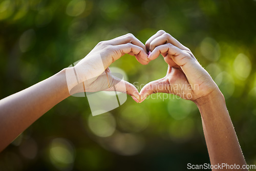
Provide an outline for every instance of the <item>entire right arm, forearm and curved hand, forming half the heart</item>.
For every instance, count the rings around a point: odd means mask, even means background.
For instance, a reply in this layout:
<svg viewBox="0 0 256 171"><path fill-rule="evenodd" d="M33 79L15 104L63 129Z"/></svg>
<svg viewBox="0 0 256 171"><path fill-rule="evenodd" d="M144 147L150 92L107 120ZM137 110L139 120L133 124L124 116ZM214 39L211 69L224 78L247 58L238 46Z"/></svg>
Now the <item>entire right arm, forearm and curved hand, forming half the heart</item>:
<svg viewBox="0 0 256 171"><path fill-rule="evenodd" d="M140 102L148 95L159 92L194 101L201 113L211 164L236 164L242 168L246 162L226 108L225 98L191 51L163 30L146 41L146 49L151 51L148 55L150 60L161 54L168 69L165 77L149 82L142 88Z"/></svg>

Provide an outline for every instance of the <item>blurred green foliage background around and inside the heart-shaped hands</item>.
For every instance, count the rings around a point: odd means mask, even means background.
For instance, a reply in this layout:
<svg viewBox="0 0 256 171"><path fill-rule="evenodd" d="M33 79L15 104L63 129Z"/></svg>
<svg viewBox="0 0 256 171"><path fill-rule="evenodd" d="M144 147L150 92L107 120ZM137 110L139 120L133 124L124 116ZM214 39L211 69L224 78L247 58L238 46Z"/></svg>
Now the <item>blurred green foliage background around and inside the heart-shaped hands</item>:
<svg viewBox="0 0 256 171"><path fill-rule="evenodd" d="M2 0L0 97L68 67L99 41L133 33L145 43L163 29L214 78L247 164L256 164L255 16L252 0ZM162 57L142 66L130 55L111 67L123 70L139 90L167 69ZM156 97L141 104L127 97L95 117L87 98L69 97L0 154L0 170L186 170L187 163L209 163L196 105L173 95Z"/></svg>

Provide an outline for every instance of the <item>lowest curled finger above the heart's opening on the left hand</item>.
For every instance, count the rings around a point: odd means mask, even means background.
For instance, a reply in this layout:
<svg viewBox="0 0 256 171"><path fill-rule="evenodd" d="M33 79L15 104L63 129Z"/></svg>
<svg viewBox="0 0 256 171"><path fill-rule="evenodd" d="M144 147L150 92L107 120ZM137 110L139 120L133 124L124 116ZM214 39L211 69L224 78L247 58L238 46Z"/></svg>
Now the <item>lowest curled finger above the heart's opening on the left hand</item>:
<svg viewBox="0 0 256 171"><path fill-rule="evenodd" d="M141 47L138 47L131 43L112 46L110 47L110 50L112 50L113 52L117 52L114 56L112 56L114 61L123 56L124 54L134 55L142 65L146 65L150 61L147 59L147 54Z"/></svg>

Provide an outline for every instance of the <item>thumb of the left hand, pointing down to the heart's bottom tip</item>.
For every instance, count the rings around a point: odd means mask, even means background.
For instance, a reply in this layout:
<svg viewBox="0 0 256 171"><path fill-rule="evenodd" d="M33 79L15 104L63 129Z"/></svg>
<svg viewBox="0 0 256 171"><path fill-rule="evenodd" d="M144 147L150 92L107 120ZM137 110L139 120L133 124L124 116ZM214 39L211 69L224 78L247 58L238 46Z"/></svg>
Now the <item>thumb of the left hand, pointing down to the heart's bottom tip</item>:
<svg viewBox="0 0 256 171"><path fill-rule="evenodd" d="M117 92L122 92L126 93L138 103L140 100L140 95L136 87L131 84L130 82L127 82L123 79L120 79L116 76L112 76L112 82L111 82L111 87L108 90L105 91L117 91Z"/></svg>

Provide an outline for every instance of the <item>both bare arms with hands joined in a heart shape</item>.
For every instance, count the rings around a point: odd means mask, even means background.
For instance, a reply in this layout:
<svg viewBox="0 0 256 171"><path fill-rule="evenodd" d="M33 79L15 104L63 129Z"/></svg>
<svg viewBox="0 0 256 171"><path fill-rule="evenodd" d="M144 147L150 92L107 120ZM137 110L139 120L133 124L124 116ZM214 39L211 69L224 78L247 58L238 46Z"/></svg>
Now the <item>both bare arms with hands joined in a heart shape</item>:
<svg viewBox="0 0 256 171"><path fill-rule="evenodd" d="M150 55L146 54L148 51L151 51ZM139 94L131 83L116 78L108 68L126 53L134 55L143 65L162 54L168 64L166 76L146 84ZM66 73L73 71L77 81L67 85ZM246 164L218 86L191 51L162 30L148 39L145 46L132 34L102 41L76 66L63 69L28 89L0 100L0 152L40 116L69 97L72 90L80 92L77 87L81 84L84 91L113 91L111 86L121 81L125 90L118 86L116 90L131 95L136 102L142 102L148 95L157 92L172 93L194 101L201 113L211 164Z"/></svg>

